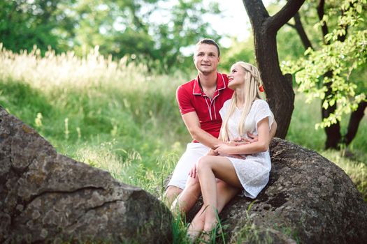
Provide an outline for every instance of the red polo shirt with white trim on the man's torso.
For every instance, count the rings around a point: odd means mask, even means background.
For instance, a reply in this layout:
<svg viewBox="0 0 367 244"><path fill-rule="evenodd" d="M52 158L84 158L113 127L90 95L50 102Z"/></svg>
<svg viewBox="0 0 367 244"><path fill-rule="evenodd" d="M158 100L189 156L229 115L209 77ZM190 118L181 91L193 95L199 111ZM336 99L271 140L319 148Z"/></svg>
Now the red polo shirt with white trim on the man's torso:
<svg viewBox="0 0 367 244"><path fill-rule="evenodd" d="M199 76L190 82L178 86L176 98L181 114L196 112L201 129L218 138L222 125L219 111L223 107L224 102L232 97L232 94L233 90L228 88L228 77L217 73L217 90L213 99L210 99L201 90Z"/></svg>

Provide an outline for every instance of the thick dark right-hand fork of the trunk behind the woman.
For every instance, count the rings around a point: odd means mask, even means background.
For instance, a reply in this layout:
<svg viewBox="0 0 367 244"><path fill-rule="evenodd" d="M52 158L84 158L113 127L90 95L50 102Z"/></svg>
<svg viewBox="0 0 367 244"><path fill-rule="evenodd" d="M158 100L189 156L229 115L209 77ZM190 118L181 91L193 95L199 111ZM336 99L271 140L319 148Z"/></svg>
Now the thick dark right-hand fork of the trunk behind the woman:
<svg viewBox="0 0 367 244"><path fill-rule="evenodd" d="M271 16L268 22L268 29L276 33L285 25L301 8L305 0L288 0L285 6L278 13Z"/></svg>

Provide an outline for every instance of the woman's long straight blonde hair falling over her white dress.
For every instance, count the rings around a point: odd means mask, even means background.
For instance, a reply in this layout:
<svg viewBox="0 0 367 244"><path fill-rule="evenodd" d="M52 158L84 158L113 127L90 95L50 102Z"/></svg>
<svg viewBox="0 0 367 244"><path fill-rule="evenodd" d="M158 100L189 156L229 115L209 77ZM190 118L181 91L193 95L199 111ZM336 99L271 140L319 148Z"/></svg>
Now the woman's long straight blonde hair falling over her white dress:
<svg viewBox="0 0 367 244"><path fill-rule="evenodd" d="M244 135L244 132L250 131L251 128L245 128L245 121L247 114L250 112L252 102L254 102L255 98L261 99L261 91L259 90L259 86L262 86L261 77L259 70L255 66L252 66L250 63L245 63L243 61L239 61L231 67L233 70L234 66L241 66L245 70L245 82L244 82L244 101L243 110L240 117L240 123L238 123L238 132L239 135ZM231 104L229 105L229 111L226 113L226 116L222 122L222 128L220 132L220 137L224 142L229 142L229 132L228 132L228 121L229 117L233 114L236 109L237 104L237 94L233 93Z"/></svg>

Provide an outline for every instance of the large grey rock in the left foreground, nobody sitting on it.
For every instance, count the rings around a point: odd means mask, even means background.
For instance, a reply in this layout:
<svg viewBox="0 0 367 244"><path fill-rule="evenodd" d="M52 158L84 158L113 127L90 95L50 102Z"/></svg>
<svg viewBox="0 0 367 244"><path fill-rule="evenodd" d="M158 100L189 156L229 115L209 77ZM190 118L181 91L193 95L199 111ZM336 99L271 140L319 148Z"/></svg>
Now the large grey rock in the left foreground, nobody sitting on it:
<svg viewBox="0 0 367 244"><path fill-rule="evenodd" d="M0 107L0 243L170 243L171 213Z"/></svg>

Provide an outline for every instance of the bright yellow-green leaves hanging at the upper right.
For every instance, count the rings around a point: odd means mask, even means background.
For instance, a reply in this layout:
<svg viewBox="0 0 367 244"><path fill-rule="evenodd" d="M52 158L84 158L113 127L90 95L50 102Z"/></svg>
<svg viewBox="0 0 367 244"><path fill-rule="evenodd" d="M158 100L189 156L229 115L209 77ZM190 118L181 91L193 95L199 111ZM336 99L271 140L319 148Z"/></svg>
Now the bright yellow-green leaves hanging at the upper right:
<svg viewBox="0 0 367 244"><path fill-rule="evenodd" d="M318 42L313 38L312 47L306 50L305 56L294 60L288 71L294 73L298 91L308 94L307 101L324 100L324 109L338 105L335 112L317 123L317 126L328 127L366 100L366 76L363 74L367 68L367 31L366 13L362 9L367 8L367 1L329 1L322 9L321 21L315 17L317 4L318 1L306 4L313 15L304 11L301 15L306 23L314 24L303 24L305 30L309 31L312 26L321 38ZM326 73L331 75L325 76Z"/></svg>

